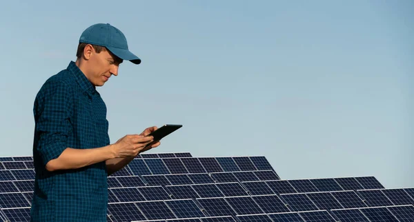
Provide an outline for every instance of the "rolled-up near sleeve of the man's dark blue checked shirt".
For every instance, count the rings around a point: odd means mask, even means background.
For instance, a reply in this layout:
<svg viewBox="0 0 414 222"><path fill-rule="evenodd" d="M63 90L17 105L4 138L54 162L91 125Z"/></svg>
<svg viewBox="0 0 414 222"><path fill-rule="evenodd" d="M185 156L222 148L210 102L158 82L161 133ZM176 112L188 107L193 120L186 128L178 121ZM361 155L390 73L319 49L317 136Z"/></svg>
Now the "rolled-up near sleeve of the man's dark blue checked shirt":
<svg viewBox="0 0 414 222"><path fill-rule="evenodd" d="M68 147L73 99L70 87L61 81L48 83L41 92L34 110L37 115L35 130L39 136L37 151L46 165Z"/></svg>

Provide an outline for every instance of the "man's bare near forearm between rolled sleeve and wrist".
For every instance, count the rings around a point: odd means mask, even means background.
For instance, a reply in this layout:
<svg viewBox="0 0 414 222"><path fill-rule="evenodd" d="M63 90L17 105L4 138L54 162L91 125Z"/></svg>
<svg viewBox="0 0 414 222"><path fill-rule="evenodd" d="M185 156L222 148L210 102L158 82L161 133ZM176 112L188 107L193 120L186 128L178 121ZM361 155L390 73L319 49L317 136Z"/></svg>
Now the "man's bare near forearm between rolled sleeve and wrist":
<svg viewBox="0 0 414 222"><path fill-rule="evenodd" d="M52 159L46 164L46 170L68 170L83 168L101 161L115 158L110 145L94 149L66 148L57 159Z"/></svg>

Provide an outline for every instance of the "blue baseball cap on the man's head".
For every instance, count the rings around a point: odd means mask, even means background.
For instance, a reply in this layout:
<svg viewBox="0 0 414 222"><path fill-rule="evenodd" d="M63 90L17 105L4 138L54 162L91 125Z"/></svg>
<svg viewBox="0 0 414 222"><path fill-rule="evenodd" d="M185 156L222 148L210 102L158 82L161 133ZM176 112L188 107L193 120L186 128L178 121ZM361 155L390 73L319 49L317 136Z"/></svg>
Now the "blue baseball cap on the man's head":
<svg viewBox="0 0 414 222"><path fill-rule="evenodd" d="M121 59L135 64L141 63L141 59L128 50L124 33L109 23L97 23L86 28L79 38L79 43L103 46Z"/></svg>

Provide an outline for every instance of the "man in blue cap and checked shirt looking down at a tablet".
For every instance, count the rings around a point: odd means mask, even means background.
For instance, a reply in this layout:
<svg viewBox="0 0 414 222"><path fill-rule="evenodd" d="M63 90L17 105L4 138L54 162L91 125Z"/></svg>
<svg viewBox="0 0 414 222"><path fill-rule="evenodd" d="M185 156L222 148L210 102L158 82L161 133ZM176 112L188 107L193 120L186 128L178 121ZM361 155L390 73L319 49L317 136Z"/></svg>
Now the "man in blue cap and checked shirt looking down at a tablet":
<svg viewBox="0 0 414 222"><path fill-rule="evenodd" d="M39 90L33 108L31 221L106 221L106 176L159 146L159 141L148 145L155 126L110 144L106 105L96 87L117 76L124 60L141 63L120 30L95 24L81 34L77 60Z"/></svg>

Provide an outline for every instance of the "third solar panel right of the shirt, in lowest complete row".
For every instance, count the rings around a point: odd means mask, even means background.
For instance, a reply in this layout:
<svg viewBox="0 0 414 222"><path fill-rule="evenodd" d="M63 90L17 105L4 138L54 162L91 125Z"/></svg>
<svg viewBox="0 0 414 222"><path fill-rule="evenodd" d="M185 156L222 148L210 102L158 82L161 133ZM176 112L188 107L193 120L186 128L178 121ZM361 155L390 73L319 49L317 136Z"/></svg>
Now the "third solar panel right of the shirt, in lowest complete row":
<svg viewBox="0 0 414 222"><path fill-rule="evenodd" d="M177 218L206 216L192 199L165 201Z"/></svg>

